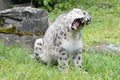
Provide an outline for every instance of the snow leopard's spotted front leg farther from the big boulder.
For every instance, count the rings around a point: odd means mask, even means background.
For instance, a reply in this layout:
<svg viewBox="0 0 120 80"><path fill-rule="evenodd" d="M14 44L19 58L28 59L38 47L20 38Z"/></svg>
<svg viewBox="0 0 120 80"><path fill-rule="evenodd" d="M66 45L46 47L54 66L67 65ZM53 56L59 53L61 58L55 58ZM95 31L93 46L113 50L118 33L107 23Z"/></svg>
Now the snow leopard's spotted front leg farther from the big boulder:
<svg viewBox="0 0 120 80"><path fill-rule="evenodd" d="M74 51L73 61L74 61L74 65L77 68L81 68L82 67L82 49L76 49Z"/></svg>

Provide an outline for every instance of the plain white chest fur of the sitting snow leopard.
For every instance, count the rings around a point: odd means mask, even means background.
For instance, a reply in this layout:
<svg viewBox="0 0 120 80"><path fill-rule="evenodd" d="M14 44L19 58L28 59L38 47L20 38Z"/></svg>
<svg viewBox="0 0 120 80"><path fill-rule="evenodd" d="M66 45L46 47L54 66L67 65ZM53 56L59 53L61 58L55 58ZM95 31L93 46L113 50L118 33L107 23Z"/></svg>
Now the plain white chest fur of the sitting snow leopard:
<svg viewBox="0 0 120 80"><path fill-rule="evenodd" d="M74 50L82 49L81 32L73 32L67 34L67 39L63 39L62 47L65 48L68 53L73 53Z"/></svg>

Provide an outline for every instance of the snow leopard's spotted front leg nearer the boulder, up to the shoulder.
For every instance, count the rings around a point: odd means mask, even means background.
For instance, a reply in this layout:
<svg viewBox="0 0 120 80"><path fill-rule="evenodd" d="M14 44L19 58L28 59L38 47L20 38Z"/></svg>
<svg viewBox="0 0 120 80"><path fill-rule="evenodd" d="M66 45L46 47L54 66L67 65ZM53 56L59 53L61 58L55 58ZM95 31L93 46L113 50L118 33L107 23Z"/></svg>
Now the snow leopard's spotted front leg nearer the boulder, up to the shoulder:
<svg viewBox="0 0 120 80"><path fill-rule="evenodd" d="M65 31L60 31L55 35L55 55L57 57L57 62L60 68L68 69L68 54L64 47L62 47L61 39L66 39Z"/></svg>

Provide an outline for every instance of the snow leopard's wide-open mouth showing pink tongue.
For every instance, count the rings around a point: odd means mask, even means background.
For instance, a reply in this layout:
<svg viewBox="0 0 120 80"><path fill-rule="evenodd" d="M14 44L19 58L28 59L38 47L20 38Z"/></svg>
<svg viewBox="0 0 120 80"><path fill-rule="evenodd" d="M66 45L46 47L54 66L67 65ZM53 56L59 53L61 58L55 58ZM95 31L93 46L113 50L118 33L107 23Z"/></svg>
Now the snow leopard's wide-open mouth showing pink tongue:
<svg viewBox="0 0 120 80"><path fill-rule="evenodd" d="M76 30L77 28L82 28L86 24L86 21L83 18L75 19L72 23L72 30Z"/></svg>

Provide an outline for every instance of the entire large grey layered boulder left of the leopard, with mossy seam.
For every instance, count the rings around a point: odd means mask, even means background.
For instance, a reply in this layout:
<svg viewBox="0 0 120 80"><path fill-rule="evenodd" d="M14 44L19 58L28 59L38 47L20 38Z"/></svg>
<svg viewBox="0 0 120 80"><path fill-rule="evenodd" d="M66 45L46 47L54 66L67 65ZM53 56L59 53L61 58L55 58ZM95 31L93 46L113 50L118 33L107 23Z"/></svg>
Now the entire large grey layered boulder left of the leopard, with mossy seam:
<svg viewBox="0 0 120 80"><path fill-rule="evenodd" d="M14 7L0 11L0 19L2 20L0 20L2 23L0 30L16 27L11 34L1 31L0 38L7 45L17 43L32 47L34 40L42 37L48 28L47 12L32 7Z"/></svg>

